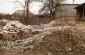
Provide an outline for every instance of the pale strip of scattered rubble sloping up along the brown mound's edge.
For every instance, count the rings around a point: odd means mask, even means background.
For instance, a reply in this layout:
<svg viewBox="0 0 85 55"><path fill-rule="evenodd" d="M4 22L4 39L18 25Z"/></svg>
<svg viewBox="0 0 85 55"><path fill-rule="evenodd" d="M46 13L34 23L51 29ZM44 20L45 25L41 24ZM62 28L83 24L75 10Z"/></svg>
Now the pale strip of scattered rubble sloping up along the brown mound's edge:
<svg viewBox="0 0 85 55"><path fill-rule="evenodd" d="M33 26L32 26L33 27ZM38 28L38 26L37 26ZM29 38L22 39L22 40L16 40L16 41L7 41L6 46L3 46L3 49L7 50L20 50L24 51L26 49L34 49L37 45L43 42L43 38L46 36L52 35L53 32L57 31L64 31L65 29L70 28L70 26L64 26L64 27L51 27L51 28L44 28L43 32L33 35Z"/></svg>

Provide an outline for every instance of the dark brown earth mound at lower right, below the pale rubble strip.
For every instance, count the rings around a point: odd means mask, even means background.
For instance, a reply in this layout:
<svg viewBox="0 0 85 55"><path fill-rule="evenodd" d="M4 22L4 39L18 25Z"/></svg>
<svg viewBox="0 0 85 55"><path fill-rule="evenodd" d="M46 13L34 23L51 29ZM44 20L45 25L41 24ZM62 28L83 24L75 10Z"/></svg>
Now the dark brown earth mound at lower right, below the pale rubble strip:
<svg viewBox="0 0 85 55"><path fill-rule="evenodd" d="M84 36L84 32L77 28L55 30L46 35L31 51L35 55L84 55Z"/></svg>

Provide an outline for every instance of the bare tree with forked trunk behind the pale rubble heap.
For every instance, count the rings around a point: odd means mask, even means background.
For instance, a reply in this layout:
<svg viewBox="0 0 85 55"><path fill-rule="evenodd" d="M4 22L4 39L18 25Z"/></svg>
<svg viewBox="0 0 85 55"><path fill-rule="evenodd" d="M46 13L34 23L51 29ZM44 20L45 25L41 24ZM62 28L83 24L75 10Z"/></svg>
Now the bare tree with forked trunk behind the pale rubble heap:
<svg viewBox="0 0 85 55"><path fill-rule="evenodd" d="M23 10L24 18L22 20L23 20L24 24L28 24L29 23L29 10L28 10L28 8L29 8L30 0L24 0L24 5L21 2L19 2L18 0L16 0L16 2L18 2L24 8L24 10Z"/></svg>

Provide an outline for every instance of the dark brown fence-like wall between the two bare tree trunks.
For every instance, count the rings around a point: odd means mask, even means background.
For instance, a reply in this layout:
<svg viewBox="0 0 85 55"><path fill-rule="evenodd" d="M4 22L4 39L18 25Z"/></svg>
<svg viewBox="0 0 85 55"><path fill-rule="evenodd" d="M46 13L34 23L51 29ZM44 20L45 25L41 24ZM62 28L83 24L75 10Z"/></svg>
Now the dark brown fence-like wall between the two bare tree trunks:
<svg viewBox="0 0 85 55"><path fill-rule="evenodd" d="M29 19L29 24L30 25L41 25L41 24L47 24L49 23L50 17L44 17L44 16L32 16Z"/></svg>

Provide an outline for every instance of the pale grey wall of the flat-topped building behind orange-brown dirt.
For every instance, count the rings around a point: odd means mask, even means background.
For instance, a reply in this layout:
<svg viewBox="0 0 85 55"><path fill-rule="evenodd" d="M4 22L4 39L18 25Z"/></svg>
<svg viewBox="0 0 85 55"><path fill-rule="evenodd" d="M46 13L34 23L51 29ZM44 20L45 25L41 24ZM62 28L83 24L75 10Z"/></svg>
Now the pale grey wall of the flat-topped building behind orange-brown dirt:
<svg viewBox="0 0 85 55"><path fill-rule="evenodd" d="M55 17L66 17L66 16L76 16L76 9L74 9L78 4L62 4L56 7Z"/></svg>

